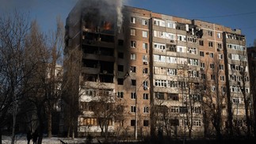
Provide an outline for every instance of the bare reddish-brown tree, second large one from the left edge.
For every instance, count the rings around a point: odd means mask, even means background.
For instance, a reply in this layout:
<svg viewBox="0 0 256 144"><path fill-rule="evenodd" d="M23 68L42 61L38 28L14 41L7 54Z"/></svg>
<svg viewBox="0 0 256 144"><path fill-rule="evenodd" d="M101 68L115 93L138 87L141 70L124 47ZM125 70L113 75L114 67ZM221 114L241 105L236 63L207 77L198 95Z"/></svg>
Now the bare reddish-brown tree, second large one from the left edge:
<svg viewBox="0 0 256 144"><path fill-rule="evenodd" d="M40 32L39 25L36 21L32 21L32 28L29 34L26 36L26 55L27 65L32 67L32 75L28 78L29 93L27 94L27 100L32 104L34 108L34 116L38 123L33 128L33 132L38 132L38 143L42 142L43 132L45 124L45 108L48 98L48 63L49 63L49 51L46 46L46 38L42 32Z"/></svg>

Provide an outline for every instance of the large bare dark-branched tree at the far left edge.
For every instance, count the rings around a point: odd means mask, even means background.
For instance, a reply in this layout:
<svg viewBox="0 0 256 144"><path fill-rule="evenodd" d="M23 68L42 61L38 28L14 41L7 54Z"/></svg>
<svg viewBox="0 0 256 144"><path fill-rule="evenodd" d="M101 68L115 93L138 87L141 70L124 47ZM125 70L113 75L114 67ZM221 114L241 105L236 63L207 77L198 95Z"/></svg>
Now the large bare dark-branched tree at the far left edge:
<svg viewBox="0 0 256 144"><path fill-rule="evenodd" d="M0 127L4 126L6 114L10 112L13 116L12 143L20 100L24 96L25 78L30 72L25 71L24 59L25 36L30 28L28 20L17 11L0 17Z"/></svg>

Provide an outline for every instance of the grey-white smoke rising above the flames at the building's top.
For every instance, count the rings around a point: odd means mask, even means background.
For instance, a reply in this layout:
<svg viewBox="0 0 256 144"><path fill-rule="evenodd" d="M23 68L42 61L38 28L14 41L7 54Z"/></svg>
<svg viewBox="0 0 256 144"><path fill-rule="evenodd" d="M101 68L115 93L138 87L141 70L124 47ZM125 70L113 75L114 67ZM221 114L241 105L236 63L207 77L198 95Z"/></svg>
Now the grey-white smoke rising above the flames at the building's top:
<svg viewBox="0 0 256 144"><path fill-rule="evenodd" d="M120 30L123 23L123 0L82 0L82 13L90 16L94 25L108 21L117 25Z"/></svg>

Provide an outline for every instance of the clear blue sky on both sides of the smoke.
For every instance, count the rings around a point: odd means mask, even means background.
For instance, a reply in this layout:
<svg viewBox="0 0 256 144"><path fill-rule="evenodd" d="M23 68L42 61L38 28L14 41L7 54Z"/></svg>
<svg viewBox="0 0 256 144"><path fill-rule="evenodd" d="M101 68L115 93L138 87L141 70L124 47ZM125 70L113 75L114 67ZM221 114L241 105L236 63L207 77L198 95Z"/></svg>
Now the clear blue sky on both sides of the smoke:
<svg viewBox="0 0 256 144"><path fill-rule="evenodd" d="M65 21L77 1L0 0L0 14L13 12L14 9L22 10L29 13L31 18L36 18L40 28L47 32L54 29L57 16ZM240 28L246 36L247 47L252 46L256 39L255 0L124 0L124 5Z"/></svg>

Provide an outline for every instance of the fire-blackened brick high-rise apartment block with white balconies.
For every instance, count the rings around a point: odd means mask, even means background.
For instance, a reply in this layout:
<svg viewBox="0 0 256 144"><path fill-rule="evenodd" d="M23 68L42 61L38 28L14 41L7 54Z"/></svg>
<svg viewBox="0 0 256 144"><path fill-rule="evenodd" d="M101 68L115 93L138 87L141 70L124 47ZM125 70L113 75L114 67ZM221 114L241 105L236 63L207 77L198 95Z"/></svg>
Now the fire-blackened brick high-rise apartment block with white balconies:
<svg viewBox="0 0 256 144"><path fill-rule="evenodd" d="M65 55L78 51L81 66L79 136L201 137L216 134L216 122L223 134L230 123L244 129L250 82L239 29L129 6L118 21L116 9L101 14L94 2L79 1L66 25Z"/></svg>

